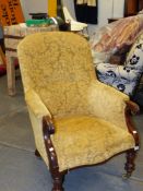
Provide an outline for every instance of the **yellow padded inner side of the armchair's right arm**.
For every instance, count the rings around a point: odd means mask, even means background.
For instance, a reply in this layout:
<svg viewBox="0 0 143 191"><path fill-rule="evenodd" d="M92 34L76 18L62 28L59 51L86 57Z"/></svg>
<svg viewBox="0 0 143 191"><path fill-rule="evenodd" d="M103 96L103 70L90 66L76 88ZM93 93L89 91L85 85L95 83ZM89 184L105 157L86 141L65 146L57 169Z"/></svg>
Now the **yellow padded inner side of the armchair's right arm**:
<svg viewBox="0 0 143 191"><path fill-rule="evenodd" d="M88 103L94 116L127 129L126 107L129 96L98 81L88 89Z"/></svg>

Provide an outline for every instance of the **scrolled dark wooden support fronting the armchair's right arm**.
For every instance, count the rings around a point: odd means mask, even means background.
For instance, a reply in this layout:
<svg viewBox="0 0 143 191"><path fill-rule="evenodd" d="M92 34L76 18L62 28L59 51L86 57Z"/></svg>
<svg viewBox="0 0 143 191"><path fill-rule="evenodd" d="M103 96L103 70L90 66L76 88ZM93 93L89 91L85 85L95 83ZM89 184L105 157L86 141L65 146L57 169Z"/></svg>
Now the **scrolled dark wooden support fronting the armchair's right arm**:
<svg viewBox="0 0 143 191"><path fill-rule="evenodd" d="M139 106L135 103L133 103L131 100L128 100L126 103L127 103L126 121L127 121L128 130L134 138L134 141L135 141L134 150L139 150L139 144L140 144L139 133L138 133L138 131L134 128L134 123L133 123L133 121L131 119L131 116L132 116L132 114L139 112L140 108L139 108Z"/></svg>

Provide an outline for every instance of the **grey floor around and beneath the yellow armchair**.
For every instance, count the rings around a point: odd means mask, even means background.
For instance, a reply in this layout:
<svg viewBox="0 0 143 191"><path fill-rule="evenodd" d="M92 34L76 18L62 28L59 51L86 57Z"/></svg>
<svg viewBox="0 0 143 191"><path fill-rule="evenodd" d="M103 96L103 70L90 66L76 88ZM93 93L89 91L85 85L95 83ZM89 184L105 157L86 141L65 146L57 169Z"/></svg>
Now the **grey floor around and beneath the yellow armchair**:
<svg viewBox="0 0 143 191"><path fill-rule="evenodd" d="M7 79L0 77L0 191L51 191L51 178L45 163L34 155L35 144L21 81L17 94L8 96ZM143 115L134 117L141 141ZM143 147L136 158L136 170L122 180L124 155L104 165L70 171L65 191L143 191Z"/></svg>

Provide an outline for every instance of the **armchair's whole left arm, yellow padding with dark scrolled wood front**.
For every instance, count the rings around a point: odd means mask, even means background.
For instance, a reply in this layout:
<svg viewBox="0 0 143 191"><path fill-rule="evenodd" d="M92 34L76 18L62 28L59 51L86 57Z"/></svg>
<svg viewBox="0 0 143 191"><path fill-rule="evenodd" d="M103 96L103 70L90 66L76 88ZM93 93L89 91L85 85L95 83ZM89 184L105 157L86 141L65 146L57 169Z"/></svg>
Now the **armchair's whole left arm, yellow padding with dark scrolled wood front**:
<svg viewBox="0 0 143 191"><path fill-rule="evenodd" d="M25 92L25 100L28 107L32 128L34 131L36 150L47 166L50 167L51 162L48 160L48 157L52 158L51 154L55 152L50 140L50 135L55 133L51 115L34 89L28 89Z"/></svg>

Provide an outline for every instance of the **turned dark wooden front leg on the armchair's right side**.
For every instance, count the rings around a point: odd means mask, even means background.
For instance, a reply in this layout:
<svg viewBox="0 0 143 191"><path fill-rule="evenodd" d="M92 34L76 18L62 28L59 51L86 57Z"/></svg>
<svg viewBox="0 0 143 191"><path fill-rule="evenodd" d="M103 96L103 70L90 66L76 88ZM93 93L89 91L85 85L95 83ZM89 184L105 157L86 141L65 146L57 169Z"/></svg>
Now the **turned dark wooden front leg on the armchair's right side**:
<svg viewBox="0 0 143 191"><path fill-rule="evenodd" d="M127 152L127 163L124 166L127 174L123 175L123 178L128 179L131 177L132 171L135 169L135 164L134 164L135 157L136 157L136 151L129 150Z"/></svg>

